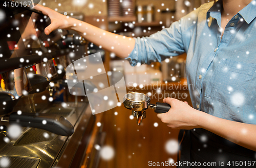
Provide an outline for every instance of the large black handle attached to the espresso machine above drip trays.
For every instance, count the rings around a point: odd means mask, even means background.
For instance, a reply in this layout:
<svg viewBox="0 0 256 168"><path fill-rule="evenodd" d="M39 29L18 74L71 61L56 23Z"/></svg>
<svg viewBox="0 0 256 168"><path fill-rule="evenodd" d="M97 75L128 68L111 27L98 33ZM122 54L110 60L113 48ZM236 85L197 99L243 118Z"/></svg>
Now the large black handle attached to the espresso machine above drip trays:
<svg viewBox="0 0 256 168"><path fill-rule="evenodd" d="M18 115L13 112L9 116L9 123L39 128L61 136L71 136L74 133L74 127L67 119L53 114L22 113Z"/></svg>

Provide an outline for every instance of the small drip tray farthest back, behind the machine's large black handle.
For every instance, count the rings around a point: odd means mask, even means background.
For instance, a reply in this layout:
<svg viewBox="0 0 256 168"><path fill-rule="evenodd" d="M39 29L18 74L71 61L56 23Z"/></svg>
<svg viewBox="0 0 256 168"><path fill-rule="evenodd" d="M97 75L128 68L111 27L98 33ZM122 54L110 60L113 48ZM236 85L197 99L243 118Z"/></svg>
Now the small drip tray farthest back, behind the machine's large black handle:
<svg viewBox="0 0 256 168"><path fill-rule="evenodd" d="M45 110L43 113L60 115L60 116L66 117L66 116L72 115L74 112L75 112L74 108L51 107Z"/></svg>

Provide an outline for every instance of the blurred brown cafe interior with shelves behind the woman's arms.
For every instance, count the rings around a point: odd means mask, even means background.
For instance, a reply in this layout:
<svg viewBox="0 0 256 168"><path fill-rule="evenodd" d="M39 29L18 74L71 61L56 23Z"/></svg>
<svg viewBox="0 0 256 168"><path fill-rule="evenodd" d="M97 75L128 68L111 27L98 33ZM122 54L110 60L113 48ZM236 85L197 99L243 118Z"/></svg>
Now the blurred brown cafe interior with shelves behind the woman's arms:
<svg viewBox="0 0 256 168"><path fill-rule="evenodd" d="M170 26L174 21L195 10L206 0L41 0L40 4L57 12L86 21L101 29L127 36L149 36ZM111 41L109 41L111 43ZM86 41L83 50L75 52L83 57L101 51L106 71L120 71L124 75L127 92L142 92L151 97L151 103L162 102L165 97L187 101L191 105L186 82L186 54L153 62L150 65L132 67L115 53L100 50ZM80 51L83 51L82 53ZM84 97L70 97L69 101L82 102ZM132 111L123 107L95 114L92 138L83 153L83 165L105 167L148 167L152 162L176 162L178 133L163 124L154 110L146 110L141 126L136 124ZM103 132L101 141L94 141ZM93 138L94 137L94 138ZM103 157L90 158L103 147ZM91 160L91 161L90 161ZM93 161L92 161L93 160ZM96 163L95 163L96 162ZM90 166L88 166L90 167Z"/></svg>

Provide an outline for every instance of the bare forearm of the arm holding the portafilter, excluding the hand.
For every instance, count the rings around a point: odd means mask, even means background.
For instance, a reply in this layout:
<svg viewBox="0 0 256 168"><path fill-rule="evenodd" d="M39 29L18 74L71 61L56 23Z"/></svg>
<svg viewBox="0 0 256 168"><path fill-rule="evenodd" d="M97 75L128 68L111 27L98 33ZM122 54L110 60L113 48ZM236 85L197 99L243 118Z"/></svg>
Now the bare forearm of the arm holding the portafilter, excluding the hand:
<svg viewBox="0 0 256 168"><path fill-rule="evenodd" d="M240 146L256 151L256 125L229 121L207 113L198 113L198 125Z"/></svg>

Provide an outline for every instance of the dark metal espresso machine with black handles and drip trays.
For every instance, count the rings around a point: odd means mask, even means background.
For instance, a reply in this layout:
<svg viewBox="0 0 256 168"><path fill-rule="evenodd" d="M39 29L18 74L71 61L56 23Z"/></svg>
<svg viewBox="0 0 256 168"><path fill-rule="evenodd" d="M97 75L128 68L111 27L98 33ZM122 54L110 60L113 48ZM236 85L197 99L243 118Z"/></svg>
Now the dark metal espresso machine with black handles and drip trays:
<svg viewBox="0 0 256 168"><path fill-rule="evenodd" d="M86 41L61 29L46 35L49 17L7 2L0 1L0 167L79 167L98 155L86 153L89 143L104 139L98 129L91 140L95 116L87 98L78 102L67 90L70 53Z"/></svg>

